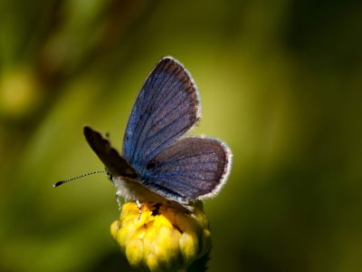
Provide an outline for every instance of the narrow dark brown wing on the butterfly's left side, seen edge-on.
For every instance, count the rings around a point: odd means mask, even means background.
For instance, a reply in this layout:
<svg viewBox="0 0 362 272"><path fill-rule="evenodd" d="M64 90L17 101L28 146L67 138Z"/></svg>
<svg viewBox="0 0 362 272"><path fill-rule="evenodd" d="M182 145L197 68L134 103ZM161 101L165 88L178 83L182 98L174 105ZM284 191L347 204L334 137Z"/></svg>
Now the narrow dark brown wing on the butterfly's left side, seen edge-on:
<svg viewBox="0 0 362 272"><path fill-rule="evenodd" d="M93 131L86 126L84 127L84 136L91 149L98 155L112 175L129 178L130 180L135 180L138 177L136 170L119 155L119 152L110 145L110 141L104 139L99 132Z"/></svg>

